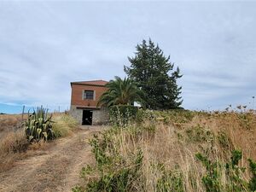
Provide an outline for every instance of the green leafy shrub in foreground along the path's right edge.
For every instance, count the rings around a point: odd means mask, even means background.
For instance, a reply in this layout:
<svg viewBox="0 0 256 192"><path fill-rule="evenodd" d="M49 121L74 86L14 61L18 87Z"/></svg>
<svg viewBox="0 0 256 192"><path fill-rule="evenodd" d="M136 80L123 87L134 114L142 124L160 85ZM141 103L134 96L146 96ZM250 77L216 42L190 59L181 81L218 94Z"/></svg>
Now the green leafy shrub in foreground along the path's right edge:
<svg viewBox="0 0 256 192"><path fill-rule="evenodd" d="M129 159L124 158L118 150L111 149L108 134L109 131L104 132L102 140L96 135L90 140L96 166L82 169L81 177L84 178L85 185L76 186L73 192L133 191L132 183L140 177L143 152L137 150L137 154L131 154ZM92 178L91 175L97 177Z"/></svg>

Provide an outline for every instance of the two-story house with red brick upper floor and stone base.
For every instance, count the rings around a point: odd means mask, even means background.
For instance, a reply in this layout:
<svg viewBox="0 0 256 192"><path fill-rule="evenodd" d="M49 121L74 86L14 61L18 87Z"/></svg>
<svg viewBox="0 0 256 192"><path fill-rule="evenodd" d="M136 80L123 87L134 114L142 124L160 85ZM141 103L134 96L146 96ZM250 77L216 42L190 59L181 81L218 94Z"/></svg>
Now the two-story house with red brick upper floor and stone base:
<svg viewBox="0 0 256 192"><path fill-rule="evenodd" d="M70 114L80 125L102 125L108 121L108 110L97 106L100 96L108 90L108 81L71 82Z"/></svg>

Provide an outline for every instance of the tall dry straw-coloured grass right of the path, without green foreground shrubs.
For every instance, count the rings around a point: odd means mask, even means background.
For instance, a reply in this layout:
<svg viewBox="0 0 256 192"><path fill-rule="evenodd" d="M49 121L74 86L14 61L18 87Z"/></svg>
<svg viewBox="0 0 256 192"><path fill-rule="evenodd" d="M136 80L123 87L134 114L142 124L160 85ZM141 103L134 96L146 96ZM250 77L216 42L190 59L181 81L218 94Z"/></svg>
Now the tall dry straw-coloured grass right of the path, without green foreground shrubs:
<svg viewBox="0 0 256 192"><path fill-rule="evenodd" d="M159 118L162 121L126 125L102 137L109 137L108 145L111 147L107 148L106 154L111 156L118 152L120 159L125 160L121 163L124 167L131 166L129 161L138 149L143 151L141 175L132 181L132 190L157 191L157 184L165 175L164 167L172 172L174 179L182 175L184 191L206 191L201 182L205 167L195 159L196 153L206 154L213 161L227 162L232 150L241 149L243 158L240 166L247 167L248 158L256 160L255 114L188 113L174 116L169 112L157 113L158 117L164 117ZM227 183L224 168L219 169L223 172L220 183ZM241 173L241 177L248 180L248 171ZM85 185L88 181L85 179Z"/></svg>

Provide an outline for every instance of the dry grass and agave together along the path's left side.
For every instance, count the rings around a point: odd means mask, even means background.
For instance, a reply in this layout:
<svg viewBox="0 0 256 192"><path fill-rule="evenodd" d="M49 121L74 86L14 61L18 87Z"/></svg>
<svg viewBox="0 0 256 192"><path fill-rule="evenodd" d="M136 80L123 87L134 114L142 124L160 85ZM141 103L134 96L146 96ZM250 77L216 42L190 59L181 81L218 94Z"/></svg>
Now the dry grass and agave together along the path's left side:
<svg viewBox="0 0 256 192"><path fill-rule="evenodd" d="M68 114L54 113L51 116L43 108L28 114L24 126L21 115L1 115L0 126L0 172L11 168L16 160L25 158L28 154L24 152L44 148L47 144L44 141L52 139L49 135L53 132L55 137L66 137L78 127Z"/></svg>

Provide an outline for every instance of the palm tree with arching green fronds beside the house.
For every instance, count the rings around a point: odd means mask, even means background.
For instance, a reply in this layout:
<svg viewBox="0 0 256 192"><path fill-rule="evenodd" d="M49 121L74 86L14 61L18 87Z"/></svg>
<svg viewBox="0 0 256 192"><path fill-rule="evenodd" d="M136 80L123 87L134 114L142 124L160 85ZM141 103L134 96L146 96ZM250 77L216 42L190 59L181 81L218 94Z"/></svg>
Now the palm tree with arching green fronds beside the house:
<svg viewBox="0 0 256 192"><path fill-rule="evenodd" d="M137 88L131 79L120 79L118 76L106 84L108 90L102 94L98 105L109 108L113 105L131 105L142 102L143 91Z"/></svg>

